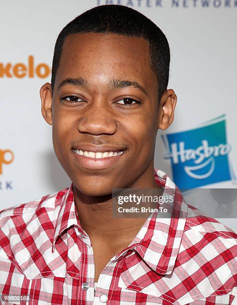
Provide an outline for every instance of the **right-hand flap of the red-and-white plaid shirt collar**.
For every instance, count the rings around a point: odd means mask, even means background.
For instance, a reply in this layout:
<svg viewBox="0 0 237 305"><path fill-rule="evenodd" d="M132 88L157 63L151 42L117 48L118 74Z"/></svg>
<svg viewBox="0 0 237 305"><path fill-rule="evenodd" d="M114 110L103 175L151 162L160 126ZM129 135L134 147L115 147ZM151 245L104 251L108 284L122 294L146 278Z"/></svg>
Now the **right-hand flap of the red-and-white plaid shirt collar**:
<svg viewBox="0 0 237 305"><path fill-rule="evenodd" d="M164 189L163 196L172 195L174 198L173 203L168 203L170 216L162 218L161 212L150 215L131 244L112 261L119 259L128 250L135 250L152 270L161 275L169 275L174 269L179 253L188 205L166 173L155 168L154 174L156 183Z"/></svg>

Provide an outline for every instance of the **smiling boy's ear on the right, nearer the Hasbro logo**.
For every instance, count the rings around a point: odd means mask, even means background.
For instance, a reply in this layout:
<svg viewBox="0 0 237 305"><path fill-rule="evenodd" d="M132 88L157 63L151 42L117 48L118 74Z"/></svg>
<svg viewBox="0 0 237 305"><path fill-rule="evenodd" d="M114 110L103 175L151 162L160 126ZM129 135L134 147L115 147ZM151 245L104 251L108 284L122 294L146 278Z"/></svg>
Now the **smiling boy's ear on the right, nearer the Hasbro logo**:
<svg viewBox="0 0 237 305"><path fill-rule="evenodd" d="M159 129L165 130L174 120L174 110L177 103L177 96L173 89L166 90L159 104Z"/></svg>

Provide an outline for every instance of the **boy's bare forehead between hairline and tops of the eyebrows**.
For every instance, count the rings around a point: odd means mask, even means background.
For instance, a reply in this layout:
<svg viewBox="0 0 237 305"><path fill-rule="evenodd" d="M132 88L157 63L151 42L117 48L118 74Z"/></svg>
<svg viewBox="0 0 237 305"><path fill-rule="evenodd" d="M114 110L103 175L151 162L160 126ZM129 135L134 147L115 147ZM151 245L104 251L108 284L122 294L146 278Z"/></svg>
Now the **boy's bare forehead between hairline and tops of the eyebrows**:
<svg viewBox="0 0 237 305"><path fill-rule="evenodd" d="M150 72L149 43L140 37L94 32L70 34L65 39L59 63L63 70L85 67L102 70L109 65L117 71Z"/></svg>

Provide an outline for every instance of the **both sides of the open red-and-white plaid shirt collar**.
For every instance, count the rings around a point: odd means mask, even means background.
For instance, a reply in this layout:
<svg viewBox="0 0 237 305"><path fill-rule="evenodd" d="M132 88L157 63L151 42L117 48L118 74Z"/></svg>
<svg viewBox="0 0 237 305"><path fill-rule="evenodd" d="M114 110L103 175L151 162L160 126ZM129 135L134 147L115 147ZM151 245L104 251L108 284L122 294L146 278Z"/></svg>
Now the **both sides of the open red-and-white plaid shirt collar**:
<svg viewBox="0 0 237 305"><path fill-rule="evenodd" d="M163 171L154 168L156 183L164 189L163 196L172 195L171 217L153 213L144 223L132 243L111 261L119 259L129 249L134 249L141 259L161 275L169 275L174 269L186 223L188 206L175 183ZM170 214L171 215L171 214ZM57 238L72 225L83 231L74 203L73 183L62 198L53 238L52 252Z"/></svg>

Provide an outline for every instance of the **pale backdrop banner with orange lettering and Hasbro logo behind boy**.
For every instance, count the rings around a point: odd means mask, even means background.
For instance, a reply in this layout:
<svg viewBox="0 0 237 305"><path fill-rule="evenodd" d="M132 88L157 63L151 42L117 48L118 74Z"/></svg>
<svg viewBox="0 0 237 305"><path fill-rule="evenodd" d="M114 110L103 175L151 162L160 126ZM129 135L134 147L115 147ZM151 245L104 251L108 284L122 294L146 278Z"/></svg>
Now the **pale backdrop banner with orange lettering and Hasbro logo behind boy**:
<svg viewBox="0 0 237 305"><path fill-rule="evenodd" d="M158 132L155 167L188 203L237 231L237 0L2 2L0 210L70 185L53 151L52 127L41 115L39 89L50 82L60 30L104 4L140 11L170 44L168 88L178 103L172 126Z"/></svg>

